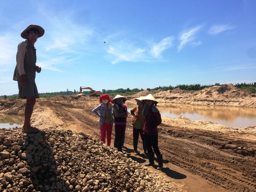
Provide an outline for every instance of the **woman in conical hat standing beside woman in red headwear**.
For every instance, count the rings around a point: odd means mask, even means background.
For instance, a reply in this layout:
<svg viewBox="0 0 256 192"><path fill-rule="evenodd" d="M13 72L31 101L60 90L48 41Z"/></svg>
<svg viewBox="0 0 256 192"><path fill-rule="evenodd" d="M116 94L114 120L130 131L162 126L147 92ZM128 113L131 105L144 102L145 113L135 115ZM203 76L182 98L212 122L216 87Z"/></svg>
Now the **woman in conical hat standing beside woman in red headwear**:
<svg viewBox="0 0 256 192"><path fill-rule="evenodd" d="M126 118L128 116L127 110L124 107L124 102L126 98L121 95L116 95L116 97L111 101L114 104L113 113L114 113L114 121L115 121L115 141L114 147L118 149L118 151L122 152L123 145L123 135L126 128Z"/></svg>

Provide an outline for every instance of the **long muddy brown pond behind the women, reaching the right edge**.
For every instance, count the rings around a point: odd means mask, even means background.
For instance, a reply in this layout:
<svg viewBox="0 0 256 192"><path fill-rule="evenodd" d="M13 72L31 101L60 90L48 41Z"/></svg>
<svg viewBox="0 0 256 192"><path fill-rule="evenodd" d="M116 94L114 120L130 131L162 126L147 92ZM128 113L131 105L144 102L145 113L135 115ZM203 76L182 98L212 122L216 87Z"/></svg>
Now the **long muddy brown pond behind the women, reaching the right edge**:
<svg viewBox="0 0 256 192"><path fill-rule="evenodd" d="M134 106L128 105L128 111ZM157 106L161 116L177 118L182 116L191 120L209 120L232 128L247 128L256 126L255 108L216 107L216 106L192 106L172 105Z"/></svg>

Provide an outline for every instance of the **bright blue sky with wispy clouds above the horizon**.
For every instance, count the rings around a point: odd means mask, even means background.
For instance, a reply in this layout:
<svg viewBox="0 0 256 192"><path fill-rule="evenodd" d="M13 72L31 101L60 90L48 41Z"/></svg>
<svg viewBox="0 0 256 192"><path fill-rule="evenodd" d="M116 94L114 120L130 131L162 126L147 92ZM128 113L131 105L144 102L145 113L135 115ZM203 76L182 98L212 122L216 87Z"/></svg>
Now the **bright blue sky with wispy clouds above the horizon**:
<svg viewBox="0 0 256 192"><path fill-rule="evenodd" d="M256 82L255 0L0 0L0 95L30 24L40 93Z"/></svg>

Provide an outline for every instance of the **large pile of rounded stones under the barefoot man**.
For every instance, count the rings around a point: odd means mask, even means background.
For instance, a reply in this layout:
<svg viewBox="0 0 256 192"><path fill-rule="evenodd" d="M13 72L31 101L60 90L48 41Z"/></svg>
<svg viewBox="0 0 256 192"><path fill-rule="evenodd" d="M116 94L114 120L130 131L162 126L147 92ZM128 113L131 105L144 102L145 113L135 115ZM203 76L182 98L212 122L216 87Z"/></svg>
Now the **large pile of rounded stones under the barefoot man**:
<svg viewBox="0 0 256 192"><path fill-rule="evenodd" d="M182 191L170 182L82 132L0 129L2 192Z"/></svg>

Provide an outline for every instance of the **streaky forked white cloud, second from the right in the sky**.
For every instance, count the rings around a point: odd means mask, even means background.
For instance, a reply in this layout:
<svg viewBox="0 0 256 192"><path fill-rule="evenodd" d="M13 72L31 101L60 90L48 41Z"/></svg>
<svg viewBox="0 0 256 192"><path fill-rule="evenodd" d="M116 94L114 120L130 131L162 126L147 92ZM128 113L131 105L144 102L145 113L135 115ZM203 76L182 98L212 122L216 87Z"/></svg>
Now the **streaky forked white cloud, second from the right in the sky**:
<svg viewBox="0 0 256 192"><path fill-rule="evenodd" d="M202 28L202 26L197 26L197 27L193 27L189 30L185 30L183 31L180 35L179 35L179 40L180 45L178 46L178 51L182 50L182 48L188 44L188 43L192 43L194 46L195 45L200 45L201 42L195 42L194 40L197 38L196 37L196 33Z"/></svg>

